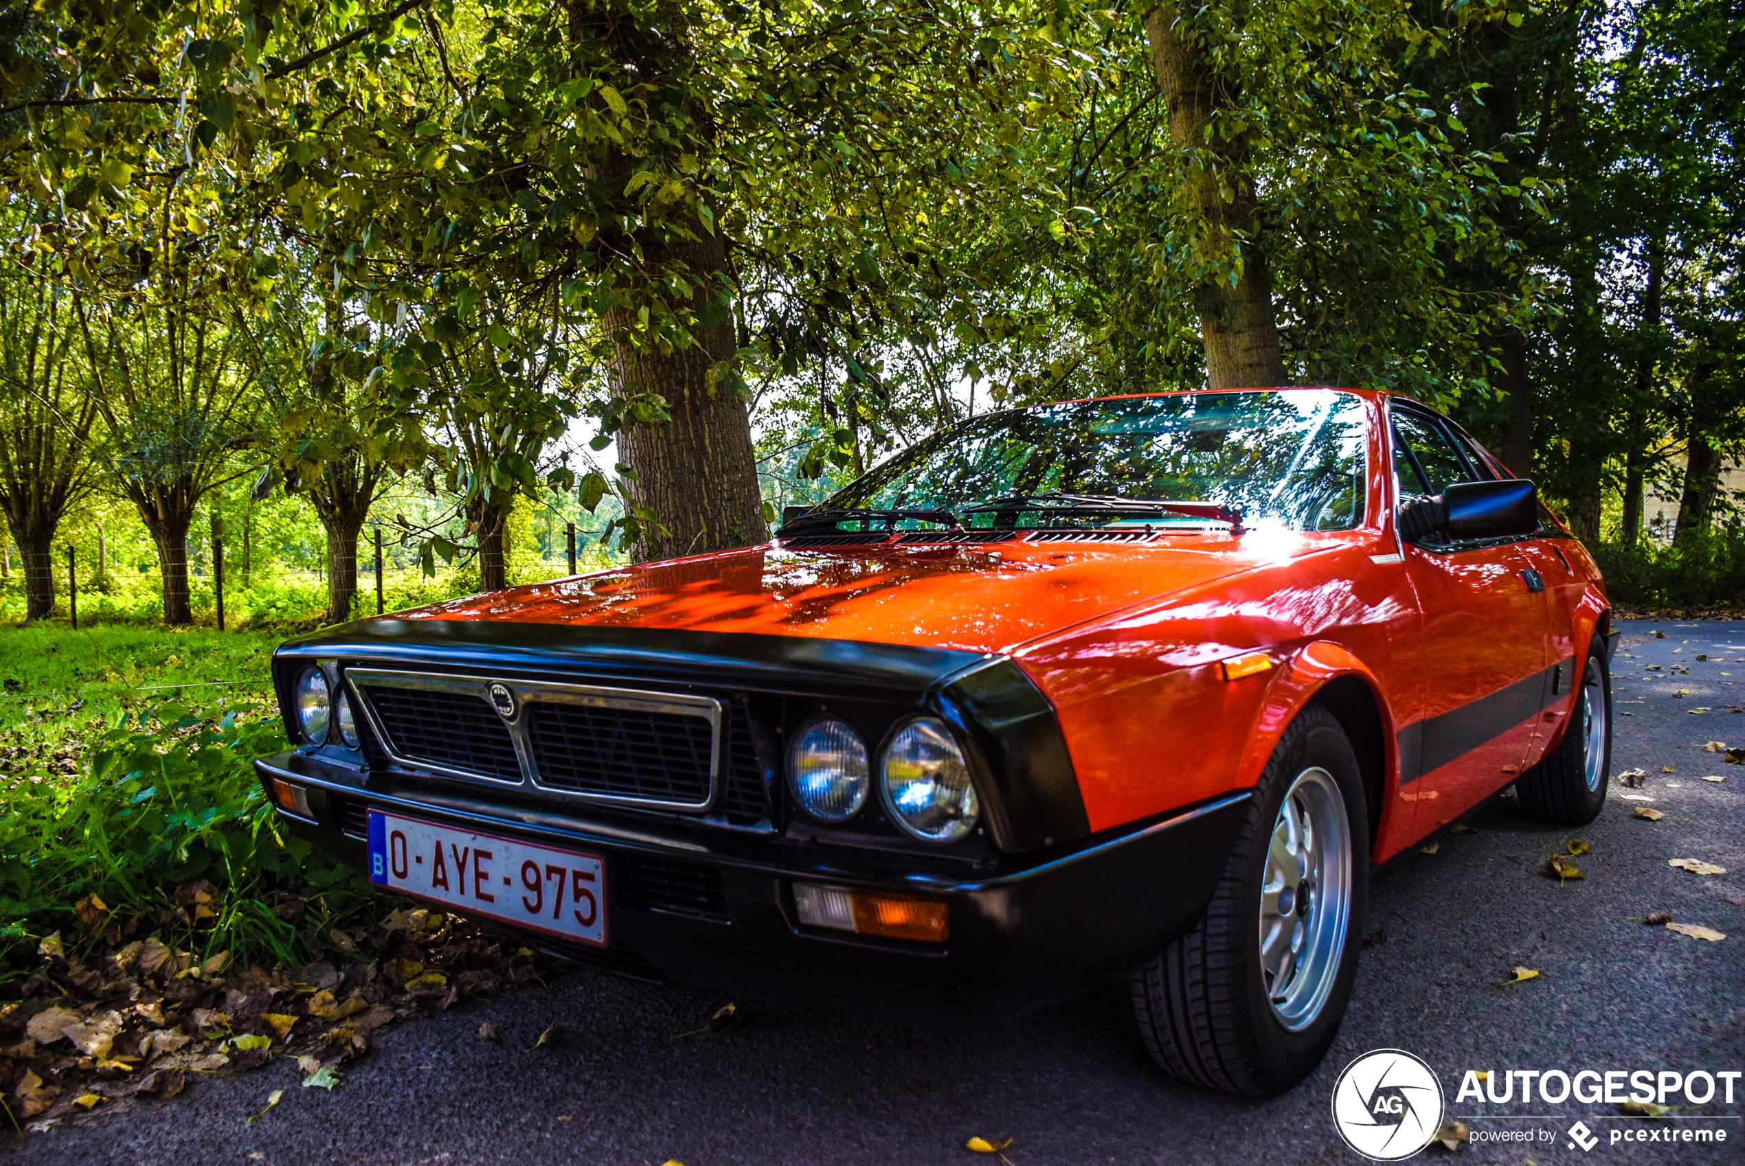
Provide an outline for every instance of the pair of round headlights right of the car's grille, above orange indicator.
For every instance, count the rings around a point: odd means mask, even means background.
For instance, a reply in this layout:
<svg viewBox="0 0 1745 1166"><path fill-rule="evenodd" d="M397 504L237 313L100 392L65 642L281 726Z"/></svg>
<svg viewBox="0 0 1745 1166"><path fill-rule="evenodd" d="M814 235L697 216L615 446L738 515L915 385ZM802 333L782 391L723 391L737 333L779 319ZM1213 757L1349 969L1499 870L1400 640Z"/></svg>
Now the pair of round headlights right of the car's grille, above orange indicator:
<svg viewBox="0 0 1745 1166"><path fill-rule="evenodd" d="M879 765L879 798L892 819L925 842L956 842L975 828L981 803L968 760L946 723L911 720L892 736ZM853 817L872 790L867 746L853 725L824 716L789 748L789 788L824 823Z"/></svg>

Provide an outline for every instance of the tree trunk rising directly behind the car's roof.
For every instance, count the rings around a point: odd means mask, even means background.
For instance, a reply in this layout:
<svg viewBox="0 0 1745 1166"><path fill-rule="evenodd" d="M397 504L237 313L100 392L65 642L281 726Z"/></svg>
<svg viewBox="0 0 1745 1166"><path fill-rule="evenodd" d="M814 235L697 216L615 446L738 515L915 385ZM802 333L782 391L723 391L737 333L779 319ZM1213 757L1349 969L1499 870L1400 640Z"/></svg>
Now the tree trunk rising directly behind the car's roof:
<svg viewBox="0 0 1745 1166"><path fill-rule="evenodd" d="M1260 249L1248 139L1244 134L1222 139L1206 132L1218 113L1220 96L1234 92L1235 85L1204 66L1192 38L1178 28L1180 19L1174 5L1152 9L1145 16L1152 68L1169 108L1169 136L1180 152L1192 152L1176 193L1183 209L1199 218L1204 232L1202 258L1216 261L1234 253L1241 260L1235 286L1225 279L1208 279L1197 291L1206 385L1283 385L1284 357L1272 307L1272 279ZM1234 197L1227 200L1220 186L1234 192Z"/></svg>

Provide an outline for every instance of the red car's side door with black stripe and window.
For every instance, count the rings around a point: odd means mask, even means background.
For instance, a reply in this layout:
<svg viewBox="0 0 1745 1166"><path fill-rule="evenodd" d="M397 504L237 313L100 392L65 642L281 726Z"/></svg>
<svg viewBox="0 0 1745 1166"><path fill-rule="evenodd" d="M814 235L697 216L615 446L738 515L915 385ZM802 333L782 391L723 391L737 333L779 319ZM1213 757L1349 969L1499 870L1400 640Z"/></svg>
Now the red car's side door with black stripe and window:
<svg viewBox="0 0 1745 1166"><path fill-rule="evenodd" d="M1391 403L1394 491L1438 495L1483 474L1427 410ZM1520 774L1544 694L1543 582L1515 540L1405 544L1417 596L1419 718L1399 737L1415 831L1450 823Z"/></svg>

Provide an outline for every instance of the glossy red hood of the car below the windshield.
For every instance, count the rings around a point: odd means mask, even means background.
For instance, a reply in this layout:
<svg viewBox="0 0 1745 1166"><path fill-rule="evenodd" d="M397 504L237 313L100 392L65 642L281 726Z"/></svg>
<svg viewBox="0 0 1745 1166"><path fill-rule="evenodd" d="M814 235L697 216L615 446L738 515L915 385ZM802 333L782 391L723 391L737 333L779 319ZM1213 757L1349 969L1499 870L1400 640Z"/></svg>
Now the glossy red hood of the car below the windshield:
<svg viewBox="0 0 1745 1166"><path fill-rule="evenodd" d="M742 547L510 587L396 619L661 627L1012 652L1052 631L1330 546L1180 535L1143 546Z"/></svg>

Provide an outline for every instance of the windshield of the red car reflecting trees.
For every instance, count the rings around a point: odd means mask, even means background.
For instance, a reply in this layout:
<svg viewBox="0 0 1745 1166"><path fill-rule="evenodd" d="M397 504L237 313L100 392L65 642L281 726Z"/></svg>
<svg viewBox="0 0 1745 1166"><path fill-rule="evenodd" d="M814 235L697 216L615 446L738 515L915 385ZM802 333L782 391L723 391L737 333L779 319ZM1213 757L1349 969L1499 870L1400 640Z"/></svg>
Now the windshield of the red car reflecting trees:
<svg viewBox="0 0 1745 1166"><path fill-rule="evenodd" d="M1080 525L1057 495L1218 502L1249 528L1351 530L1363 521L1363 404L1326 389L1078 401L989 413L914 444L825 507L963 512L1014 495L1028 507L967 514L974 526ZM1063 511L1075 511L1064 523ZM1119 523L1201 526L1159 512Z"/></svg>

